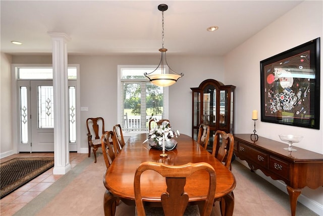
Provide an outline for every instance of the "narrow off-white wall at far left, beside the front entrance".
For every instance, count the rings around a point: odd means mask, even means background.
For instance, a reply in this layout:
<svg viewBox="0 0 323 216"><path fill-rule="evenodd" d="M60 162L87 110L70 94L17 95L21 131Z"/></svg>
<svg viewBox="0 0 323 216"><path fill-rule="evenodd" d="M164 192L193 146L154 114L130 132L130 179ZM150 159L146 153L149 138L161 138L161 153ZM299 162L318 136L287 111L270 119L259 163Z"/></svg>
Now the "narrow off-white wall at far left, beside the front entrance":
<svg viewBox="0 0 323 216"><path fill-rule="evenodd" d="M11 112L11 56L1 53L0 72L0 143L4 156L13 154Z"/></svg>

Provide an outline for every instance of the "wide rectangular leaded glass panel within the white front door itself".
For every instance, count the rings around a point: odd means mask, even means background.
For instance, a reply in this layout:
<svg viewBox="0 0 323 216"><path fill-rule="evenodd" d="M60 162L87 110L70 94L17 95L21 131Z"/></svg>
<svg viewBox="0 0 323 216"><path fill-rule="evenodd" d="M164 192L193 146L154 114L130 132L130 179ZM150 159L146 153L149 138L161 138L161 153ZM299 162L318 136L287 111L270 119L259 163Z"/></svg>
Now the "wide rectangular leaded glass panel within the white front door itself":
<svg viewBox="0 0 323 216"><path fill-rule="evenodd" d="M53 87L38 86L38 128L53 127Z"/></svg>

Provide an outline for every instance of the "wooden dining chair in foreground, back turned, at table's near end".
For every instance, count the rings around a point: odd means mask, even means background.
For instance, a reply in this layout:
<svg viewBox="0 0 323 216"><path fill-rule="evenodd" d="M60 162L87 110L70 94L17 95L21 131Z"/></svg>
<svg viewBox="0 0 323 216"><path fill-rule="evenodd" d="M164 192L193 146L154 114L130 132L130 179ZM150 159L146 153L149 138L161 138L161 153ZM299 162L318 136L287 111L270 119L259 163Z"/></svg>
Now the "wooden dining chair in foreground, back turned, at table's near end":
<svg viewBox="0 0 323 216"><path fill-rule="evenodd" d="M136 172L134 178L134 192L136 213L139 216L145 216L146 212L153 212L156 215L156 207L144 207L141 188L140 177L144 171L153 170L166 178L167 191L161 193L161 206L166 216L170 215L203 215L209 216L212 211L214 202L214 194L216 191L216 172L213 167L205 162L200 163L188 163L180 166L166 165L163 163L155 163L146 161L141 163ZM186 178L192 175L196 171L205 170L209 174L208 191L205 200L198 205L188 205L189 194L184 191L186 184ZM204 185L201 187L204 187ZM197 185L197 190L199 185ZM153 210L151 210L153 209ZM160 208L159 208L160 209ZM163 213L162 212L162 213Z"/></svg>

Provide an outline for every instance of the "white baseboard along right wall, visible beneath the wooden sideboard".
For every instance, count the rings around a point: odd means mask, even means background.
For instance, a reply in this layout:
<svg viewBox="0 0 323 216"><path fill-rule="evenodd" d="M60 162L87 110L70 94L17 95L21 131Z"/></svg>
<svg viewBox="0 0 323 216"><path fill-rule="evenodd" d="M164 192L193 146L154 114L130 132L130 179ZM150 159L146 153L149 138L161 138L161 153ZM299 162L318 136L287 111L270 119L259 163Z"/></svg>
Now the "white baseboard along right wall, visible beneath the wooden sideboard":
<svg viewBox="0 0 323 216"><path fill-rule="evenodd" d="M239 163L241 163L242 165L244 165L245 167L249 168L249 166L245 160L241 160L237 157L236 157L236 160ZM260 176L261 178L263 178L264 180L266 180L267 182L270 182L271 184L273 184L275 187L277 187L278 189L280 189L284 193L288 194L287 189L286 189L286 184L283 181L273 180L271 177L264 175L260 170L256 170L255 173L258 176ZM318 215L323 215L323 205L322 204L316 202L313 199L308 198L307 196L304 196L303 194L299 195L297 200L300 203L302 203L303 205L305 205L307 208L309 208L312 211L314 211L315 213L317 213Z"/></svg>

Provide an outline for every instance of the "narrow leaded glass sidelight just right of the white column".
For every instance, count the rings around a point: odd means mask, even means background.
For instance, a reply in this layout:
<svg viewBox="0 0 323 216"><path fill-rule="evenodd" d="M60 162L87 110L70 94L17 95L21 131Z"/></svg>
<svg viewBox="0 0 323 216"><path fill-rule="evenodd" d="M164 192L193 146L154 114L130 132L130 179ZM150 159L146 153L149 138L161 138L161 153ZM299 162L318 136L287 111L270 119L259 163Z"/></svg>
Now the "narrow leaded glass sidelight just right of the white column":
<svg viewBox="0 0 323 216"><path fill-rule="evenodd" d="M69 121L70 121L70 142L76 142L76 88L69 86Z"/></svg>

